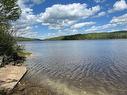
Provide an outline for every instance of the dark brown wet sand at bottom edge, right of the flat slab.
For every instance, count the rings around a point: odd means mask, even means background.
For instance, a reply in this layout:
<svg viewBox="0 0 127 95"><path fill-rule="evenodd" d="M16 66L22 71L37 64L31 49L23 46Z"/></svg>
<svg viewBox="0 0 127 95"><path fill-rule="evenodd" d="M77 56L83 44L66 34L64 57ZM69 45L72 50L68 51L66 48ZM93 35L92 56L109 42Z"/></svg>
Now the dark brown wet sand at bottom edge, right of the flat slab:
<svg viewBox="0 0 127 95"><path fill-rule="evenodd" d="M48 89L48 87L22 79L10 95L56 95L56 93Z"/></svg>

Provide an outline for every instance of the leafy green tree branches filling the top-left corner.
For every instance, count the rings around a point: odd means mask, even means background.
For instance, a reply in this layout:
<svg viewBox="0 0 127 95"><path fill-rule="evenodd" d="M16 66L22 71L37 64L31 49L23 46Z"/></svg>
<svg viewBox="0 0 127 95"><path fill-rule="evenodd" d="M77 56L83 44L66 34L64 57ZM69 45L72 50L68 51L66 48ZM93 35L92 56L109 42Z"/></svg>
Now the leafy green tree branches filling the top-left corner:
<svg viewBox="0 0 127 95"><path fill-rule="evenodd" d="M17 20L20 13L17 0L0 0L0 23Z"/></svg>

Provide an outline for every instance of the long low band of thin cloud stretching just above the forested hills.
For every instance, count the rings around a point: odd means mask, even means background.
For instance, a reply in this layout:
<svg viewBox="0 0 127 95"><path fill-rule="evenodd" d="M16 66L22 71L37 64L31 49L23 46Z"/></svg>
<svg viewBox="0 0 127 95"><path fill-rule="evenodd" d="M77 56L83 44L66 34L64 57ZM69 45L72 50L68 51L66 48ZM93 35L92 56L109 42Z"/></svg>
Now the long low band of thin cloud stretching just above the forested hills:
<svg viewBox="0 0 127 95"><path fill-rule="evenodd" d="M79 30L79 29L62 29L59 30L59 32L55 33L49 33L49 35L43 35L42 39L45 38L51 38L51 37L57 37L57 36L63 36L63 35L74 35L74 34L79 34L79 33L93 33L93 32L111 32L111 31L119 31L119 30L126 30L127 27L125 26L124 28L119 28L118 24L115 23L108 23L100 26L92 26L91 28L88 28L86 30Z"/></svg>

